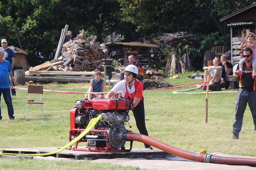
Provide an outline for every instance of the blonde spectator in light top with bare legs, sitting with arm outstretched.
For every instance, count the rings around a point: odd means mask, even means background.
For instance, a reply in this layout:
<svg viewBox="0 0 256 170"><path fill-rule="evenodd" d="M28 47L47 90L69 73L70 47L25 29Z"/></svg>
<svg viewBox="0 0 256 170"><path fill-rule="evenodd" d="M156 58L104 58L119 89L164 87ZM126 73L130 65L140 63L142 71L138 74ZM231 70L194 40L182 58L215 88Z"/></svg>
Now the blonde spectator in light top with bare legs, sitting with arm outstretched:
<svg viewBox="0 0 256 170"><path fill-rule="evenodd" d="M219 60L215 57L213 60L213 66L203 67L204 69L204 81L207 81L207 75L209 76L209 85L213 83L219 83L221 74L222 74L222 67L219 66Z"/></svg>

